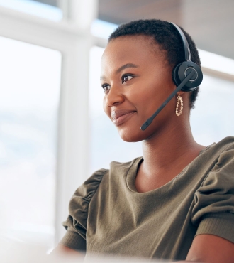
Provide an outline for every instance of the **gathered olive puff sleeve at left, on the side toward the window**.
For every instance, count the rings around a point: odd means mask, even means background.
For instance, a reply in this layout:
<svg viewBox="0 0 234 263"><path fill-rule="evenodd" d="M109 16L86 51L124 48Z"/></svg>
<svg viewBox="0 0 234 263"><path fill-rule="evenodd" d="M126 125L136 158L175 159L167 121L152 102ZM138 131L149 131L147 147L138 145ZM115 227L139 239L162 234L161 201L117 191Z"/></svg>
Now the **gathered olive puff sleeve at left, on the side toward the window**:
<svg viewBox="0 0 234 263"><path fill-rule="evenodd" d="M79 186L69 202L69 215L62 225L67 230L60 241L74 250L86 250L86 232L89 203L96 193L107 170L96 171L82 186Z"/></svg>

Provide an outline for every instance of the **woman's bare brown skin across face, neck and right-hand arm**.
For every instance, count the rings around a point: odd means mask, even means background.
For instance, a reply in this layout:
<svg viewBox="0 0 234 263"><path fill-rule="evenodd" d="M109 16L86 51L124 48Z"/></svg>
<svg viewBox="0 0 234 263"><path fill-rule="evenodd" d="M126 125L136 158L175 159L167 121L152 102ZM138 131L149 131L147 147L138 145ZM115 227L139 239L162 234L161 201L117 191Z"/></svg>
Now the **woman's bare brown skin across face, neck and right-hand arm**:
<svg viewBox="0 0 234 263"><path fill-rule="evenodd" d="M133 64L134 66L123 65ZM124 141L142 141L143 159L135 180L138 192L159 188L171 181L205 148L194 141L189 123L189 93L182 115L177 117L177 96L162 109L145 131L140 126L175 89L172 67L165 52L146 36L124 36L108 43L101 60L104 111L135 111L116 126ZM166 176L163 176L166 175ZM187 262L234 262L234 244L214 235L194 238Z"/></svg>

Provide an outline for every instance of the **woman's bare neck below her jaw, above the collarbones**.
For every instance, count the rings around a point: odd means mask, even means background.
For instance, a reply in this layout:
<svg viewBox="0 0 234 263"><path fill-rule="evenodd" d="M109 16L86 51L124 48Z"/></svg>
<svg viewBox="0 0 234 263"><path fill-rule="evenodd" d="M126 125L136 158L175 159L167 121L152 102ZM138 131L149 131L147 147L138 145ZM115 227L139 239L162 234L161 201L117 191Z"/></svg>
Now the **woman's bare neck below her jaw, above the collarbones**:
<svg viewBox="0 0 234 263"><path fill-rule="evenodd" d="M199 155L201 146L191 134L189 122L173 122L171 127L143 141L143 166L145 176L164 173L169 177L177 175Z"/></svg>

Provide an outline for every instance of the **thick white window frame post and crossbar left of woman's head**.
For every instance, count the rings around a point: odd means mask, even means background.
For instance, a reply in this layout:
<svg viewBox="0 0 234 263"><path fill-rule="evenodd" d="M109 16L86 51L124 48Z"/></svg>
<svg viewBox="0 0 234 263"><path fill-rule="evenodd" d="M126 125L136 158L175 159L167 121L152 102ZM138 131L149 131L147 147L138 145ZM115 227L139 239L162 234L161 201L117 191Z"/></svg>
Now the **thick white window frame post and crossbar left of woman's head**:
<svg viewBox="0 0 234 263"><path fill-rule="evenodd" d="M0 36L62 53L57 125L55 245L65 233L69 199L89 173L89 50L96 0L60 0L62 21L0 6ZM81 14L86 14L82 16ZM82 99L81 99L82 98Z"/></svg>

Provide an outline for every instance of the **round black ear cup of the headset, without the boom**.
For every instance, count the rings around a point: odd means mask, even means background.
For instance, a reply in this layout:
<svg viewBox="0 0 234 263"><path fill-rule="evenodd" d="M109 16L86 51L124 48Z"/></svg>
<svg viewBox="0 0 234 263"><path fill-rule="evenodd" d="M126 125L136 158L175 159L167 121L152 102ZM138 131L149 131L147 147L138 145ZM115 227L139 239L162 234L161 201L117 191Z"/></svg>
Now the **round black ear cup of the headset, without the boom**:
<svg viewBox="0 0 234 263"><path fill-rule="evenodd" d="M173 80L177 86L184 80L184 78L191 72L191 70L194 70L196 74L194 74L191 80L189 80L186 85L182 87L182 91L191 92L199 87L203 79L201 68L199 67L199 65L196 65L196 63L187 60L176 65L173 70Z"/></svg>

